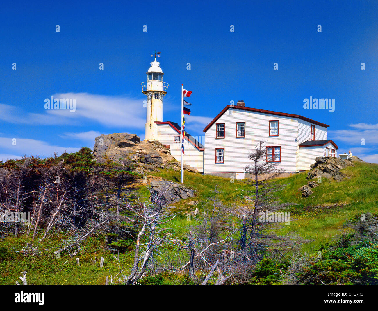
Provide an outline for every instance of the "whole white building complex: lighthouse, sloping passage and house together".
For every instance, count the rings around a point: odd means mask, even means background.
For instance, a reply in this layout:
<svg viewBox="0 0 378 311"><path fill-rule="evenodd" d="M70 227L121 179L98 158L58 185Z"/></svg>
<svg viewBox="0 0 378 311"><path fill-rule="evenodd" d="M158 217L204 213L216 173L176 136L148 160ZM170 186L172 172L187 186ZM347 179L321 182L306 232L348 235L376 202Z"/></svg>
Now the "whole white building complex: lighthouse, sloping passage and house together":
<svg viewBox="0 0 378 311"><path fill-rule="evenodd" d="M145 140L158 140L171 154L181 160L181 126L163 122L163 97L168 84L155 60L142 83L147 96ZM203 130L203 145L186 132L184 164L204 174L223 177L245 177L244 168L250 164L248 154L261 140L266 141L266 161L277 162L287 173L310 169L318 156L336 157L336 144L327 138L329 125L301 115L245 107L226 106Z"/></svg>

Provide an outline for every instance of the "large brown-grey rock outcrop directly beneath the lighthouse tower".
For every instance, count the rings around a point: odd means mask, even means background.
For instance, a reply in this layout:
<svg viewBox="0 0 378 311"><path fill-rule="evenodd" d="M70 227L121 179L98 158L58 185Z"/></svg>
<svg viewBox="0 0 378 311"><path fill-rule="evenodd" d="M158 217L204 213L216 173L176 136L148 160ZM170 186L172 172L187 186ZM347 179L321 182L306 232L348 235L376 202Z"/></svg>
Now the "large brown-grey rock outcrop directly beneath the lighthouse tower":
<svg viewBox="0 0 378 311"><path fill-rule="evenodd" d="M159 171L159 169L172 168L175 171L181 169L181 164L170 154L170 149L157 140L141 141L136 134L102 134L95 139L93 153L99 163L105 162L106 159L127 160L135 165L134 171L139 174ZM189 172L198 172L189 165L184 165L184 169Z"/></svg>

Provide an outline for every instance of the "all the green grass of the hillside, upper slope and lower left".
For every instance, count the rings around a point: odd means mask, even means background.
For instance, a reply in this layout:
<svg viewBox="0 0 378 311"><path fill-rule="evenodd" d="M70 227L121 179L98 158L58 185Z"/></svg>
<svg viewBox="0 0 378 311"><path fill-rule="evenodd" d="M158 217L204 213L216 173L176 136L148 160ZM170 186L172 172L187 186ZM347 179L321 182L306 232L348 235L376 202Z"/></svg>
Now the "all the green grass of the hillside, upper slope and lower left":
<svg viewBox="0 0 378 311"><path fill-rule="evenodd" d="M302 251L314 252L325 242L331 242L344 230L342 225L345 220L366 212L378 212L378 165L355 164L355 167L342 170L350 178L345 178L341 182L323 179L321 185L314 188L313 195L307 199L302 198L301 193L297 191L307 183L307 173L276 180L277 183L286 185L278 193L279 199L294 203L288 209L291 212L291 225L282 228L281 232L296 231L300 236L314 240L304 245ZM175 182L180 178L180 172L173 170L154 174ZM243 190L248 190L249 186L240 180L232 183L230 179L188 172L185 173L184 180L186 186L196 190L196 197L174 204L180 216L170 223L170 228L178 236L186 235L187 226L192 224L192 220L187 220L185 214L189 210L194 210L195 206L188 205L188 202L198 200L198 208L203 209L202 202L213 195L215 187L220 191L218 198L226 206L245 204L244 197L248 196ZM139 189L139 193L144 197L148 196L145 186ZM336 207L314 209L315 206L331 206L335 203ZM21 276L20 272L24 270L28 272L29 284L103 284L106 276L115 276L119 272L113 254L99 251L105 246L104 236L93 236L85 240L83 254L70 257L64 253L57 259L53 254L54 249L59 248L60 241L66 238L63 234L56 234L44 240L42 245L33 242L33 245L43 250L40 254L28 255L18 251L30 242L30 237L6 237L0 242L0 284L14 284ZM91 262L92 258L101 256L105 257L103 268L99 268L99 262ZM76 257L80 258L81 266L76 265ZM121 265L127 266L131 262L132 252L120 254ZM185 283L185 276L178 276L175 282Z"/></svg>

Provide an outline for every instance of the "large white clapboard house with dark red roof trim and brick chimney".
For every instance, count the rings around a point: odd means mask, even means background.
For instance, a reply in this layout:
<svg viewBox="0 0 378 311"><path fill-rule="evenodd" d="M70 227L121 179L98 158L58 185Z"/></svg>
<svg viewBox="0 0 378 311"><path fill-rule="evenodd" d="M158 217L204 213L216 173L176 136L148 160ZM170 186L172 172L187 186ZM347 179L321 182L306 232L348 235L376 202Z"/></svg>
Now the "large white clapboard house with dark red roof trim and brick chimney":
<svg viewBox="0 0 378 311"><path fill-rule="evenodd" d="M301 115L245 107L243 101L226 106L204 128L204 173L245 177L248 155L265 141L266 161L287 173L310 169L318 156L336 157L336 144L328 139L329 125Z"/></svg>

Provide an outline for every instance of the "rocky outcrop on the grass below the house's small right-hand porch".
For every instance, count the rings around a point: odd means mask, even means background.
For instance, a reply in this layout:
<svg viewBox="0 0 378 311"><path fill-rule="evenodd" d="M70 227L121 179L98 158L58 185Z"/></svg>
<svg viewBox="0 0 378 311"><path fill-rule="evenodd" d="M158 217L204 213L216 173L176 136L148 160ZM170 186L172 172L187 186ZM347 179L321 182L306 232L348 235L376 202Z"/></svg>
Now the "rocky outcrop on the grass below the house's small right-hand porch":
<svg viewBox="0 0 378 311"><path fill-rule="evenodd" d="M353 157L354 158L354 157ZM347 166L355 166L352 161L334 157L316 157L315 163L310 166L307 179L314 179L318 176L327 179L342 180L346 177L340 172Z"/></svg>

